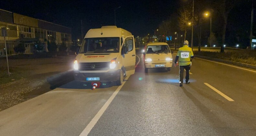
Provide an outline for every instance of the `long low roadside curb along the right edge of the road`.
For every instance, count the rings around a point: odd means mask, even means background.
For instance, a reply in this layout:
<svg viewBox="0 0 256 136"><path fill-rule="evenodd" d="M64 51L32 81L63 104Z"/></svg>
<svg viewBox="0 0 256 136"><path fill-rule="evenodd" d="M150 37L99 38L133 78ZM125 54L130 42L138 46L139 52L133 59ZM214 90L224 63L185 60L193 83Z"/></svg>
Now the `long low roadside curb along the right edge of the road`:
<svg viewBox="0 0 256 136"><path fill-rule="evenodd" d="M227 61L227 60L222 60L222 59L216 59L216 58L211 58L211 57L206 57L206 56L200 56L200 55L194 55L197 58L203 58L207 60L212 60L212 61L218 61L218 62L224 62L232 65L237 65L241 67L246 67L246 68L251 68L251 69L256 69L255 65L250 65L250 64L245 64L245 63L239 63L239 62L232 62L232 61Z"/></svg>

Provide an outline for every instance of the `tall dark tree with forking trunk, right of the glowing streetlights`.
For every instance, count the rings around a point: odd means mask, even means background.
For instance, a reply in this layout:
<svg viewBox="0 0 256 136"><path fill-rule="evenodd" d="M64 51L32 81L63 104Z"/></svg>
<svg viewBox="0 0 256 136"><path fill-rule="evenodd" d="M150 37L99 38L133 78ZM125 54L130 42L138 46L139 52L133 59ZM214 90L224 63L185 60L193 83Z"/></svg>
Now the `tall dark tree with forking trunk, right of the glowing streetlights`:
<svg viewBox="0 0 256 136"><path fill-rule="evenodd" d="M230 11L241 2L241 0L215 0L214 7L216 11L223 17L223 29L222 29L222 45L221 52L224 52L225 36L227 29L227 17Z"/></svg>

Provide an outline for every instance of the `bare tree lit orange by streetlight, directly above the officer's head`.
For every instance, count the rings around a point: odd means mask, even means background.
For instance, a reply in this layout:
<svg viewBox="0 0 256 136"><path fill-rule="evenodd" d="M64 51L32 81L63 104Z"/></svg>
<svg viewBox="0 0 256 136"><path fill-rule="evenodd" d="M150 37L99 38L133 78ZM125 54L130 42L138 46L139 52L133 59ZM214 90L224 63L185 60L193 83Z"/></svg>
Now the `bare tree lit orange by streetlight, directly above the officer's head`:
<svg viewBox="0 0 256 136"><path fill-rule="evenodd" d="M184 40L186 40L187 26L188 26L188 23L191 22L191 18L192 16L189 10L183 8L179 11L178 26L181 31L185 31Z"/></svg>

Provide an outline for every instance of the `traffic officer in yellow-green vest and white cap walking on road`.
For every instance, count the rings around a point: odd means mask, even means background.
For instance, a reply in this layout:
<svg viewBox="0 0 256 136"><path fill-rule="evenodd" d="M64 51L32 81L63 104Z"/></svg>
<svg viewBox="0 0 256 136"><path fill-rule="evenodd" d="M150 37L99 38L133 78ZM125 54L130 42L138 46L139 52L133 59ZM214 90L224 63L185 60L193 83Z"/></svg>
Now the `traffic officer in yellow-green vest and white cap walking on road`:
<svg viewBox="0 0 256 136"><path fill-rule="evenodd" d="M183 85L183 73L184 69L186 70L186 84L189 84L189 70L191 66L191 61L194 58L194 54L191 48L188 47L189 42L184 41L184 46L179 48L179 51L176 55L174 66L180 64L180 87ZM179 63L177 63L179 59Z"/></svg>

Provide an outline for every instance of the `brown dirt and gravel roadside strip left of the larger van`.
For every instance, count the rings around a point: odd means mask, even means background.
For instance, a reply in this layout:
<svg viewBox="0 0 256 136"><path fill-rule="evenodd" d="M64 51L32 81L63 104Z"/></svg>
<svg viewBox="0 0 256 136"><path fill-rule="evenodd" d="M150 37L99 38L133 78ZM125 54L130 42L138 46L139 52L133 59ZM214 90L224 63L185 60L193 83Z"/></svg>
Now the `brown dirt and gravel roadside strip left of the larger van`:
<svg viewBox="0 0 256 136"><path fill-rule="evenodd" d="M54 75L72 74L68 71L72 70L75 57L9 60L12 74L10 78L7 75L0 80L0 111L50 91L55 84ZM2 72L7 67L6 60L0 60L0 64ZM3 84L4 80L9 80L9 83Z"/></svg>

